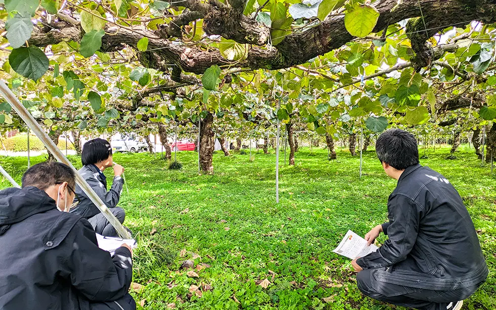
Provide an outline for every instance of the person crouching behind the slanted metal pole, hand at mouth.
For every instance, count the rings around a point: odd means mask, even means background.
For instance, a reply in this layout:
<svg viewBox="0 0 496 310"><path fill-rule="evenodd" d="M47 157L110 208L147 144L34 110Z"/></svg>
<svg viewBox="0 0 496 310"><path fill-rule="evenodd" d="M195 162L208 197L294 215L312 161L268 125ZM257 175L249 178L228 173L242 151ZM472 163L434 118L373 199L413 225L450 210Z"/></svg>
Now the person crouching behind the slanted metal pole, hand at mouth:
<svg viewBox="0 0 496 310"><path fill-rule="evenodd" d="M90 140L82 147L81 163L83 167L79 169L79 173L122 224L124 223L126 212L124 209L117 207L117 203L124 185L124 179L121 176L124 168L121 165L113 165L112 160L112 147L108 141L100 138ZM112 167L112 165L114 180L110 190L107 191L107 178L103 171ZM118 237L115 228L79 186L76 186L76 194L80 199L80 203L77 207L71 209L71 212L88 219L97 234Z"/></svg>

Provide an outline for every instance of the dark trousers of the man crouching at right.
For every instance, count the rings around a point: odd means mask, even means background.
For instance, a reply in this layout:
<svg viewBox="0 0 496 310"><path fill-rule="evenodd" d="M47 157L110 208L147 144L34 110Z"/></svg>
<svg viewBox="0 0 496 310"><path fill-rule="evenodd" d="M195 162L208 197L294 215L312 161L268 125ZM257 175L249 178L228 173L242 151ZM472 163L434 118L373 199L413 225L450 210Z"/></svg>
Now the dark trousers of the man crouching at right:
<svg viewBox="0 0 496 310"><path fill-rule="evenodd" d="M358 289L363 294L380 301L419 310L446 310L450 302L456 303L469 297L479 287L475 285L449 291L408 287L378 281L374 277L375 272L377 269L367 269L356 276Z"/></svg>

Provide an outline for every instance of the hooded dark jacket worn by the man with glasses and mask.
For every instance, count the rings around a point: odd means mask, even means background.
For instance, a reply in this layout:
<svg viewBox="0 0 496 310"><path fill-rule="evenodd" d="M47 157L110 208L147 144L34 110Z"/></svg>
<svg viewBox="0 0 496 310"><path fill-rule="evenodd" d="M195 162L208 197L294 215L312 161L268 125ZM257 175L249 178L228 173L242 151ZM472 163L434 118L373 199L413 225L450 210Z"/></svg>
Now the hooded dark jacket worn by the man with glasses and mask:
<svg viewBox="0 0 496 310"><path fill-rule="evenodd" d="M87 310L131 284L131 252L120 247L111 257L88 220L34 187L0 191L0 249L2 310Z"/></svg>

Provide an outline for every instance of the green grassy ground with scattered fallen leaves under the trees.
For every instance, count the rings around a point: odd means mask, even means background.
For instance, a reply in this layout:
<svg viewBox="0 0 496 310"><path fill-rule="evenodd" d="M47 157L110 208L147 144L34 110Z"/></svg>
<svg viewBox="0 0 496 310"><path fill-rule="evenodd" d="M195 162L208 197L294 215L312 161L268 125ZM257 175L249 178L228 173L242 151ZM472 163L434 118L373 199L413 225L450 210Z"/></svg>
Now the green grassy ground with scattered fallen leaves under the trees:
<svg viewBox="0 0 496 310"><path fill-rule="evenodd" d="M140 245L134 258L134 282L143 285L133 292L138 303L145 309L169 303L184 309L399 309L364 298L350 261L332 253L349 229L364 235L387 218L395 181L375 153L364 153L362 179L359 158L345 150L329 162L326 150L302 149L294 167L284 166L281 156L279 204L273 153L255 153L253 162L249 155L216 153L213 176L198 175L193 152L178 153L179 171L168 170L159 156L114 156L126 168L129 187L119 205ZM489 265L488 281L464 309L495 309L496 172L482 167L467 146L456 160L445 159L447 148L427 154L421 163L460 191ZM77 157L70 160L80 167ZM26 158L0 162L20 181ZM186 259L194 259L198 277L180 270Z"/></svg>

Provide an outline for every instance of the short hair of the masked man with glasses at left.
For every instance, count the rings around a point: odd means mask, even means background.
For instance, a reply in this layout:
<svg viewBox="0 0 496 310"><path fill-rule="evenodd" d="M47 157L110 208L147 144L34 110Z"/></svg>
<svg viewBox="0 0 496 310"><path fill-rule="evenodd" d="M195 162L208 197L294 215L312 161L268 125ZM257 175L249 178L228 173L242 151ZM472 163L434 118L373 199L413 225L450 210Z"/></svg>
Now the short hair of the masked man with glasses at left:
<svg viewBox="0 0 496 310"><path fill-rule="evenodd" d="M22 188L34 186L46 190L55 184L67 182L71 188L76 185L76 174L66 164L54 161L45 161L27 169L22 176Z"/></svg>

